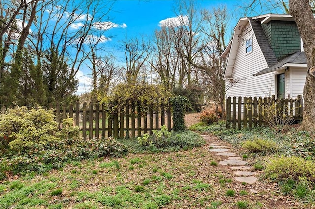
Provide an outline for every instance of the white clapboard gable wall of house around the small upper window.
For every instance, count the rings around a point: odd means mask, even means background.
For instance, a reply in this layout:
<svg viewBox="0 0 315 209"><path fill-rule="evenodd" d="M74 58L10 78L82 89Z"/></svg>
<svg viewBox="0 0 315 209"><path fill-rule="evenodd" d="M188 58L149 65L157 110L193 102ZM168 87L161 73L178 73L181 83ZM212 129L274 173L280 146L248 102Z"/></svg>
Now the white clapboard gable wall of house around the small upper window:
<svg viewBox="0 0 315 209"><path fill-rule="evenodd" d="M246 54L245 41L241 40L249 37L252 37L252 52ZM233 69L233 79L238 81L227 90L226 97L266 97L275 94L274 73L253 76L258 71L267 68L268 65L251 27L243 32L241 40ZM229 81L227 81L228 85Z"/></svg>

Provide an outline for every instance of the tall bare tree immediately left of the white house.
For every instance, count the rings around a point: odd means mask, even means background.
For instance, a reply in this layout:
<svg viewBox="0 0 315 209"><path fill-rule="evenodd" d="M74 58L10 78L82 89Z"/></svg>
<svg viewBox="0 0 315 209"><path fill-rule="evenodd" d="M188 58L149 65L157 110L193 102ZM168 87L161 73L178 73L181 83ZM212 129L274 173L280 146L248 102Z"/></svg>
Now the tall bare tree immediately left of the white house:
<svg viewBox="0 0 315 209"><path fill-rule="evenodd" d="M202 70L206 90L215 102L216 110L218 106L224 112L224 101L226 84L224 80L226 60L221 58L221 54L226 48L228 39L227 27L230 21L226 7L215 8L211 12L204 10L203 19L206 22L202 29L203 34L208 39L203 43L203 50L200 53L202 65L197 67Z"/></svg>

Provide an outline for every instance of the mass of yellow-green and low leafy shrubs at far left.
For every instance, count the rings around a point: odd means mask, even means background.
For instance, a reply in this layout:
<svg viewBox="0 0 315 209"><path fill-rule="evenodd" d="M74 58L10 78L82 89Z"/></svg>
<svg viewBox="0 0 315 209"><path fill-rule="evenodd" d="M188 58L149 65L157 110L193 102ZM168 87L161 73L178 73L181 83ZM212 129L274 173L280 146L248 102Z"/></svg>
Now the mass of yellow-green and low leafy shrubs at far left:
<svg viewBox="0 0 315 209"><path fill-rule="evenodd" d="M127 152L126 147L113 138L80 138L79 128L73 127L71 118L63 120L63 128L56 132L57 123L53 121L52 112L40 108L36 111L25 107L8 110L1 115L0 121L4 130L1 130L1 143L6 145L1 146L0 179L10 172L45 172L61 168L71 160L121 157ZM15 137L17 135L19 137Z"/></svg>

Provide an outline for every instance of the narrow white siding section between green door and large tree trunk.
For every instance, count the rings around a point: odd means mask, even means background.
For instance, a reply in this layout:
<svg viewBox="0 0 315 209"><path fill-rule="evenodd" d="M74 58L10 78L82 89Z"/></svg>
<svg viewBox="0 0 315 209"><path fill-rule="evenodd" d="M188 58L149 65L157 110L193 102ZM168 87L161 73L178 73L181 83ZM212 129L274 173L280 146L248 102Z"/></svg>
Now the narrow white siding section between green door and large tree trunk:
<svg viewBox="0 0 315 209"><path fill-rule="evenodd" d="M296 98L297 95L303 95L303 88L305 85L305 79L306 79L306 68L292 68L290 67L290 73L291 73L291 88L292 93L291 97Z"/></svg>

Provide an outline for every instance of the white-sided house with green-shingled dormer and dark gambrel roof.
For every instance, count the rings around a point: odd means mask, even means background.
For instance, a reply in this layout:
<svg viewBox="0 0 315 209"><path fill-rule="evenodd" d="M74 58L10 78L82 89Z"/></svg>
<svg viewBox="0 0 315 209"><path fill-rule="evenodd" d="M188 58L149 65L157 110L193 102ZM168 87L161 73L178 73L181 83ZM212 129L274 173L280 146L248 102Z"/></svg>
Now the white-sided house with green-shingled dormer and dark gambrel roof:
<svg viewBox="0 0 315 209"><path fill-rule="evenodd" d="M280 99L303 94L307 60L291 15L241 18L221 57L227 58L226 97Z"/></svg>

